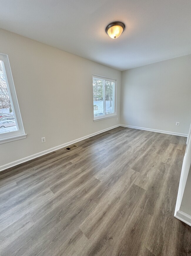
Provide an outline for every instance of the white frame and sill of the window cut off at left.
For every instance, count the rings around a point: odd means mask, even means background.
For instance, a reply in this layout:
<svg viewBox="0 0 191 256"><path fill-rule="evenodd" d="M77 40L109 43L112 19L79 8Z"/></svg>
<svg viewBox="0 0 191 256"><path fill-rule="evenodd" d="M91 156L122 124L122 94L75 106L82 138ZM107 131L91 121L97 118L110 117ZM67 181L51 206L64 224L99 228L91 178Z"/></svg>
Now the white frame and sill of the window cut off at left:
<svg viewBox="0 0 191 256"><path fill-rule="evenodd" d="M8 55L0 53L0 60L3 61L4 63L4 67L6 71L5 79L6 79L9 93L11 95L10 100L11 100L12 109L14 110L14 113L15 113L15 122L19 129L18 131L0 133L0 144L2 144L2 143L26 138L27 135L24 132L24 126L21 118L21 112L19 109L19 103L16 97L16 91L15 91L15 86L14 86L13 76L11 73L11 66L9 63Z"/></svg>

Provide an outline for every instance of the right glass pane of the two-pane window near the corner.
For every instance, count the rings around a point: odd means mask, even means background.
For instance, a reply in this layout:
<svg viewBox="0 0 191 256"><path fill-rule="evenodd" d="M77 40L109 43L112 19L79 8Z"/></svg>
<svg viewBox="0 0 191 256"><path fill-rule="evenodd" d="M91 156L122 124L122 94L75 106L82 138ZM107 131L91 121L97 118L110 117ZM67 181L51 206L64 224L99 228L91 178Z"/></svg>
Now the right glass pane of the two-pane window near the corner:
<svg viewBox="0 0 191 256"><path fill-rule="evenodd" d="M105 114L114 113L114 86L112 81L105 80Z"/></svg>

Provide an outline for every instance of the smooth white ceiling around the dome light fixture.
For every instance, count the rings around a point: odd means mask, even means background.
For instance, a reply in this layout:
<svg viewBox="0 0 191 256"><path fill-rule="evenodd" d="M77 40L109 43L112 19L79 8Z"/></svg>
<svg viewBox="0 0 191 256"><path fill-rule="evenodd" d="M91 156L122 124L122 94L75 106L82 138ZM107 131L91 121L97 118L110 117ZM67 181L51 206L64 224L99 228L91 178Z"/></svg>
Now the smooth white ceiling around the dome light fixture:
<svg viewBox="0 0 191 256"><path fill-rule="evenodd" d="M190 0L1 0L0 27L119 70L191 54Z"/></svg>

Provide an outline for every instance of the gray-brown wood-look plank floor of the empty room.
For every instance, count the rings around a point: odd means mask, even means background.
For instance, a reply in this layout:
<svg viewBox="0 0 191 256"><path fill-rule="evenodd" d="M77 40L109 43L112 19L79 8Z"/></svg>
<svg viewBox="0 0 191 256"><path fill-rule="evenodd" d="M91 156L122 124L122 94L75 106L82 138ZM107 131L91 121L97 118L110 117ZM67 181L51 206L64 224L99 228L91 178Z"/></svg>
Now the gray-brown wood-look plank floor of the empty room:
<svg viewBox="0 0 191 256"><path fill-rule="evenodd" d="M0 255L191 255L186 138L116 128L0 173Z"/></svg>

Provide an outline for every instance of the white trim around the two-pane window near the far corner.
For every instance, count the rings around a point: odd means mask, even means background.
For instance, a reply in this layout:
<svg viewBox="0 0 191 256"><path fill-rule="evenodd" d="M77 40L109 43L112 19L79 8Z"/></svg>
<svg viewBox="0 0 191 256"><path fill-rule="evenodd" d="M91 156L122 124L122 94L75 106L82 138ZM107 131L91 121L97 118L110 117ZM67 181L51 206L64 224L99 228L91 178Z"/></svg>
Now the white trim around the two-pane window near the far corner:
<svg viewBox="0 0 191 256"><path fill-rule="evenodd" d="M117 80L111 79L111 78L108 78L108 77L105 77L105 76L98 76L98 75L92 75L92 81L93 81L93 78L97 78L97 79L100 79L100 80L107 80L107 81L111 81L111 82L115 83L114 99L113 99L114 112L112 114L100 115L98 117L95 117L94 112L93 112L93 121L96 122L96 121L100 121L100 120L103 120L103 119L116 117L117 116L117 114L116 114L117 113L117 110L116 110L116 108L117 108ZM104 92L104 95L103 95L103 99L105 99L105 92ZM105 102L104 102L104 107L105 107Z"/></svg>

